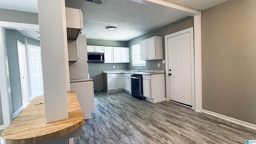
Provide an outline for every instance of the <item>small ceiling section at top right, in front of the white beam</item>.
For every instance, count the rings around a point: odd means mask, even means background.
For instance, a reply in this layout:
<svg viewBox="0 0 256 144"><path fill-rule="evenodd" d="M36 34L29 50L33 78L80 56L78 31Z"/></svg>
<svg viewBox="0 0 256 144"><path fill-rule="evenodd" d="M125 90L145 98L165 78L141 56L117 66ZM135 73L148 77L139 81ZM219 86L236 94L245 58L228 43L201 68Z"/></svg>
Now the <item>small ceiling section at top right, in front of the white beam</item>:
<svg viewBox="0 0 256 144"><path fill-rule="evenodd" d="M166 2L172 2L195 10L206 10L212 6L225 2L227 0L164 0Z"/></svg>

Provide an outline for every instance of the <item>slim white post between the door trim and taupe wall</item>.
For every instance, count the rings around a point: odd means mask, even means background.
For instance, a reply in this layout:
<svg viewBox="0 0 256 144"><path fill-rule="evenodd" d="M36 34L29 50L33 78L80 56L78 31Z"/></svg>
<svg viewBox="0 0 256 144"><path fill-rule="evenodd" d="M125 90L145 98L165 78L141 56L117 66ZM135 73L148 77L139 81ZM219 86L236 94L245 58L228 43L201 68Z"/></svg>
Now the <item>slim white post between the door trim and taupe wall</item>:
<svg viewBox="0 0 256 144"><path fill-rule="evenodd" d="M194 16L194 53L195 53L195 110L202 112L202 48L201 13Z"/></svg>

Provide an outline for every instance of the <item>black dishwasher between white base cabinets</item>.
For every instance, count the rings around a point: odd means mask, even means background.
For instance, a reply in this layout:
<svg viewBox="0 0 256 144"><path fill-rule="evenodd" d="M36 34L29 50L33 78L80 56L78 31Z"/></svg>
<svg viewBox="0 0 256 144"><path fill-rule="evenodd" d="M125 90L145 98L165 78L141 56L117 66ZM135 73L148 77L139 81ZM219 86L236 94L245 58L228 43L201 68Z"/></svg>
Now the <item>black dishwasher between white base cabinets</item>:
<svg viewBox="0 0 256 144"><path fill-rule="evenodd" d="M132 96L139 98L140 100L144 99L143 97L143 88L142 88L142 75L133 74L131 76L131 85L132 85Z"/></svg>

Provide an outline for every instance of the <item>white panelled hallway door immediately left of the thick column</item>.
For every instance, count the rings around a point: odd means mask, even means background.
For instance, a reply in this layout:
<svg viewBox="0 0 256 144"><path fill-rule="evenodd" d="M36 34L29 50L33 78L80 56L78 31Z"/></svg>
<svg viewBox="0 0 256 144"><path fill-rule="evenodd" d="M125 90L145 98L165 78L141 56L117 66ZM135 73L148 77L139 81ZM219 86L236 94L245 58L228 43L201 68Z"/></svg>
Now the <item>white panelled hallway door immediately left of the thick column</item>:
<svg viewBox="0 0 256 144"><path fill-rule="evenodd" d="M31 100L44 94L40 46L28 45Z"/></svg>

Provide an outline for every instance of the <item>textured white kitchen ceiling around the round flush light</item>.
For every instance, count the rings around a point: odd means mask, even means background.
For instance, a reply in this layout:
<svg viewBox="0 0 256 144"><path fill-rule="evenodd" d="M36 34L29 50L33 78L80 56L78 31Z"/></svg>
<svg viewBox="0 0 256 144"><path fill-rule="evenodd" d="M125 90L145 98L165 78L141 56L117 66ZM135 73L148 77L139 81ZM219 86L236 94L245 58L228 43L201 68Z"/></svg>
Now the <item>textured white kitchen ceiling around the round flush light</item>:
<svg viewBox="0 0 256 144"><path fill-rule="evenodd" d="M66 0L66 7L82 9L82 34L100 40L131 40L187 16L159 4L146 5L130 0L106 0L102 5ZM115 26L117 30L108 31L107 26Z"/></svg>

